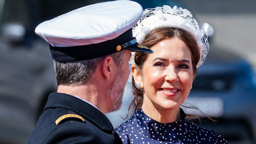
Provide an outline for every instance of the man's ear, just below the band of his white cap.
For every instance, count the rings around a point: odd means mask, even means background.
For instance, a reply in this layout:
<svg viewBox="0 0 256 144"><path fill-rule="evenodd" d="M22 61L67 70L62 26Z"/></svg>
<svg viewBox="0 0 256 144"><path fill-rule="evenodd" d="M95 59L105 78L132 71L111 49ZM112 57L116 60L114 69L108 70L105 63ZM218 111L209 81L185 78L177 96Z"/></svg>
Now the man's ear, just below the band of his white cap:
<svg viewBox="0 0 256 144"><path fill-rule="evenodd" d="M110 75L114 72L115 62L111 56L106 56L102 62L102 74L106 80L109 80Z"/></svg>

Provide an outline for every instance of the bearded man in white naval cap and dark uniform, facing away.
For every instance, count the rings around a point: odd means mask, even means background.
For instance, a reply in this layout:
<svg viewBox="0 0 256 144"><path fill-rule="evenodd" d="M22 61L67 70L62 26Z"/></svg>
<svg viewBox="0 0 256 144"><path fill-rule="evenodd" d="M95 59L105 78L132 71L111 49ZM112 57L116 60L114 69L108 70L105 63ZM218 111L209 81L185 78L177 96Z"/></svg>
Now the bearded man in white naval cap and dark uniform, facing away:
<svg viewBox="0 0 256 144"><path fill-rule="evenodd" d="M121 106L130 51L152 53L132 37L141 15L138 3L118 0L78 8L36 27L50 44L58 90L49 95L28 144L120 142L104 114Z"/></svg>

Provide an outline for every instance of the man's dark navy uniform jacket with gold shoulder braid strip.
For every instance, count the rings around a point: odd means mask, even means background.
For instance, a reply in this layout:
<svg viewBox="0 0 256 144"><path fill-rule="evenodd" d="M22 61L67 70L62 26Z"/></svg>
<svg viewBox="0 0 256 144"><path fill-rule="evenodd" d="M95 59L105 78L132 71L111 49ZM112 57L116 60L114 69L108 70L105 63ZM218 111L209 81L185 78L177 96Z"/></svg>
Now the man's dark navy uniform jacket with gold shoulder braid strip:
<svg viewBox="0 0 256 144"><path fill-rule="evenodd" d="M116 144L119 136L94 106L68 94L49 95L28 144Z"/></svg>

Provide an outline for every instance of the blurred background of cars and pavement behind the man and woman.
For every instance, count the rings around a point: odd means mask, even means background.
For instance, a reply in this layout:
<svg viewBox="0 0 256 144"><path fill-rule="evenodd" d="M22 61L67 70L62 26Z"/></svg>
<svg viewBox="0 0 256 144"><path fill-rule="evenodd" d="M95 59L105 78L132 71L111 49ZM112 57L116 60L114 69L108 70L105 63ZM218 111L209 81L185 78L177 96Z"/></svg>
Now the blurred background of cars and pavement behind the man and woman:
<svg viewBox="0 0 256 144"><path fill-rule="evenodd" d="M41 22L70 10L105 0L0 0L0 143L25 144L56 80L48 44L34 34ZM109 0L106 0L109 1ZM230 144L256 143L256 1L134 0L143 8L167 4L193 13L210 25L206 62L198 69L185 104L197 106L198 125L217 131ZM132 100L131 83L123 106L106 114L116 127Z"/></svg>

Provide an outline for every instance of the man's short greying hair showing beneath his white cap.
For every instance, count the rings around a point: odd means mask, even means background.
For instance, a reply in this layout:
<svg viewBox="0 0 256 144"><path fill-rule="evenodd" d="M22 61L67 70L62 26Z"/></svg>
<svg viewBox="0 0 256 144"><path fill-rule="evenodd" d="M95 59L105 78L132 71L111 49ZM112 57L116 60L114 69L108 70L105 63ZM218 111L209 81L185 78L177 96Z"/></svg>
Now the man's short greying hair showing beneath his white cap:
<svg viewBox="0 0 256 144"><path fill-rule="evenodd" d="M118 66L122 65L124 51L110 54ZM94 74L97 65L106 56L90 60L76 62L58 62L54 60L54 70L56 72L57 85L80 86L85 84Z"/></svg>

